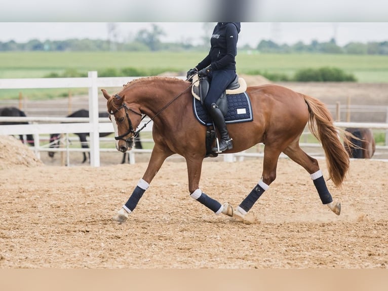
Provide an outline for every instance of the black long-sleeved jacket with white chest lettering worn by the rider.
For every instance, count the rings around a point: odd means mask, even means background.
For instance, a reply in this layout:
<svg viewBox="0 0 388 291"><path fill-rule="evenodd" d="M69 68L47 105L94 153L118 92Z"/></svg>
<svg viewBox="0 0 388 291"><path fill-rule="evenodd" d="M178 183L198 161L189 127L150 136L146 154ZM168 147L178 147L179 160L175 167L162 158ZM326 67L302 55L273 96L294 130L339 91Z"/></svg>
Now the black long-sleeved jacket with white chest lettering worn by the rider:
<svg viewBox="0 0 388 291"><path fill-rule="evenodd" d="M208 65L212 69L235 69L240 22L218 22L210 40L209 54L197 65L201 70Z"/></svg>

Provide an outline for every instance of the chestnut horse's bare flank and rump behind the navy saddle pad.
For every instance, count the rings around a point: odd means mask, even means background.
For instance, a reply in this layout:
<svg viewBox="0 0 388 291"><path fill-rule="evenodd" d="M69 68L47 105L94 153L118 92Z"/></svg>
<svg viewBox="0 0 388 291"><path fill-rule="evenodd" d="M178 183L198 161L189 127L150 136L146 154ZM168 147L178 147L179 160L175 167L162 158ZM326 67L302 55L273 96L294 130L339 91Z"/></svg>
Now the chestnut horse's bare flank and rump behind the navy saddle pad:
<svg viewBox="0 0 388 291"><path fill-rule="evenodd" d="M251 99L253 121L228 125L234 140L244 140L241 145L240 142L236 144L236 152L265 142L268 136L294 136L303 131L308 121L308 109L302 94L277 85L248 87L247 93Z"/></svg>

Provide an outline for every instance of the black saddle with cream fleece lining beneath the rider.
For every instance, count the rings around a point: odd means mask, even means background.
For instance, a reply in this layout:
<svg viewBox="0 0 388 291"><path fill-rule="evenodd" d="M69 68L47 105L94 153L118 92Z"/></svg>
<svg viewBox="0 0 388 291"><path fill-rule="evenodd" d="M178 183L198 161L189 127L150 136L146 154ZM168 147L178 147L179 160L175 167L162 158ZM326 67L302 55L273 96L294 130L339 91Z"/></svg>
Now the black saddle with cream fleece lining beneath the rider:
<svg viewBox="0 0 388 291"><path fill-rule="evenodd" d="M208 78L201 78L198 81L198 75L192 77L192 87L191 87L191 94L196 98L197 100L201 101L201 104L204 104L206 95L209 91L209 80ZM241 94L244 93L247 90L247 83L243 78L239 78L239 76L236 74L236 78L228 85L226 90L221 94L221 96L217 99L217 106L220 108L222 114L225 116L228 110L227 107L227 100L226 95L234 95L234 94Z"/></svg>

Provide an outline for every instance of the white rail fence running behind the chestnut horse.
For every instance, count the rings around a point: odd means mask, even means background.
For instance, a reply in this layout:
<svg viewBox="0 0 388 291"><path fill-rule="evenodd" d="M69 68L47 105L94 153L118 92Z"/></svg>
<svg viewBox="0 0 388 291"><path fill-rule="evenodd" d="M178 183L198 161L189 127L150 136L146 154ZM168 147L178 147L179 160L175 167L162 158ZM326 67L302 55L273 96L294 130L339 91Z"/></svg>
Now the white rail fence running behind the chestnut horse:
<svg viewBox="0 0 388 291"><path fill-rule="evenodd" d="M56 118L56 117L0 117L3 121L28 121L28 125L0 125L0 135L23 135L33 134L35 151L47 151L40 148L38 144L40 134L50 133L81 133L90 132L90 162L91 166L100 166L100 132L113 132L112 124L107 118L98 117L98 88L121 87L129 81L140 77L113 77L97 78L97 72L91 71L87 78L44 78L44 79L0 79L1 89L27 89L27 88L89 88L89 118ZM184 77L180 77L184 79ZM146 120L143 121L143 123ZM44 123L37 123L44 122ZM53 123L54 122L54 123ZM64 124L64 123L65 124ZM142 126L143 123L140 125ZM338 127L360 127L372 129L388 129L388 123L355 123L355 122L336 122ZM150 123L144 131L150 131ZM81 149L80 149L81 151ZM83 149L82 151L85 151ZM256 156L260 153L237 153L225 154L225 161L234 161L236 157Z"/></svg>

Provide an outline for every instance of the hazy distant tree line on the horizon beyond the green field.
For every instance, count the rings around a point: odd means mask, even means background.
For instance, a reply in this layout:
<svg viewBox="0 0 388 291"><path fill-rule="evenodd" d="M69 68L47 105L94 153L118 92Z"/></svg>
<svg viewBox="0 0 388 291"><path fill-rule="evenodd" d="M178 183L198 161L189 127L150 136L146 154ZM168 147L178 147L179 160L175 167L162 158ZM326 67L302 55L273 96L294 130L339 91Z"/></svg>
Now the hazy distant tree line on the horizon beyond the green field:
<svg viewBox="0 0 388 291"><path fill-rule="evenodd" d="M150 29L139 30L135 38L118 42L115 40L69 39L63 41L30 40L25 43L15 41L0 42L0 51L188 51L208 50L210 44L204 38L202 45L192 45L188 41L164 43L161 37L163 29L153 24ZM256 47L244 45L243 50L260 53L328 53L328 54L360 54L388 55L388 41L384 42L351 42L344 46L336 44L335 39L328 42L312 41L310 44L297 42L293 45L278 44L271 40L262 40Z"/></svg>

